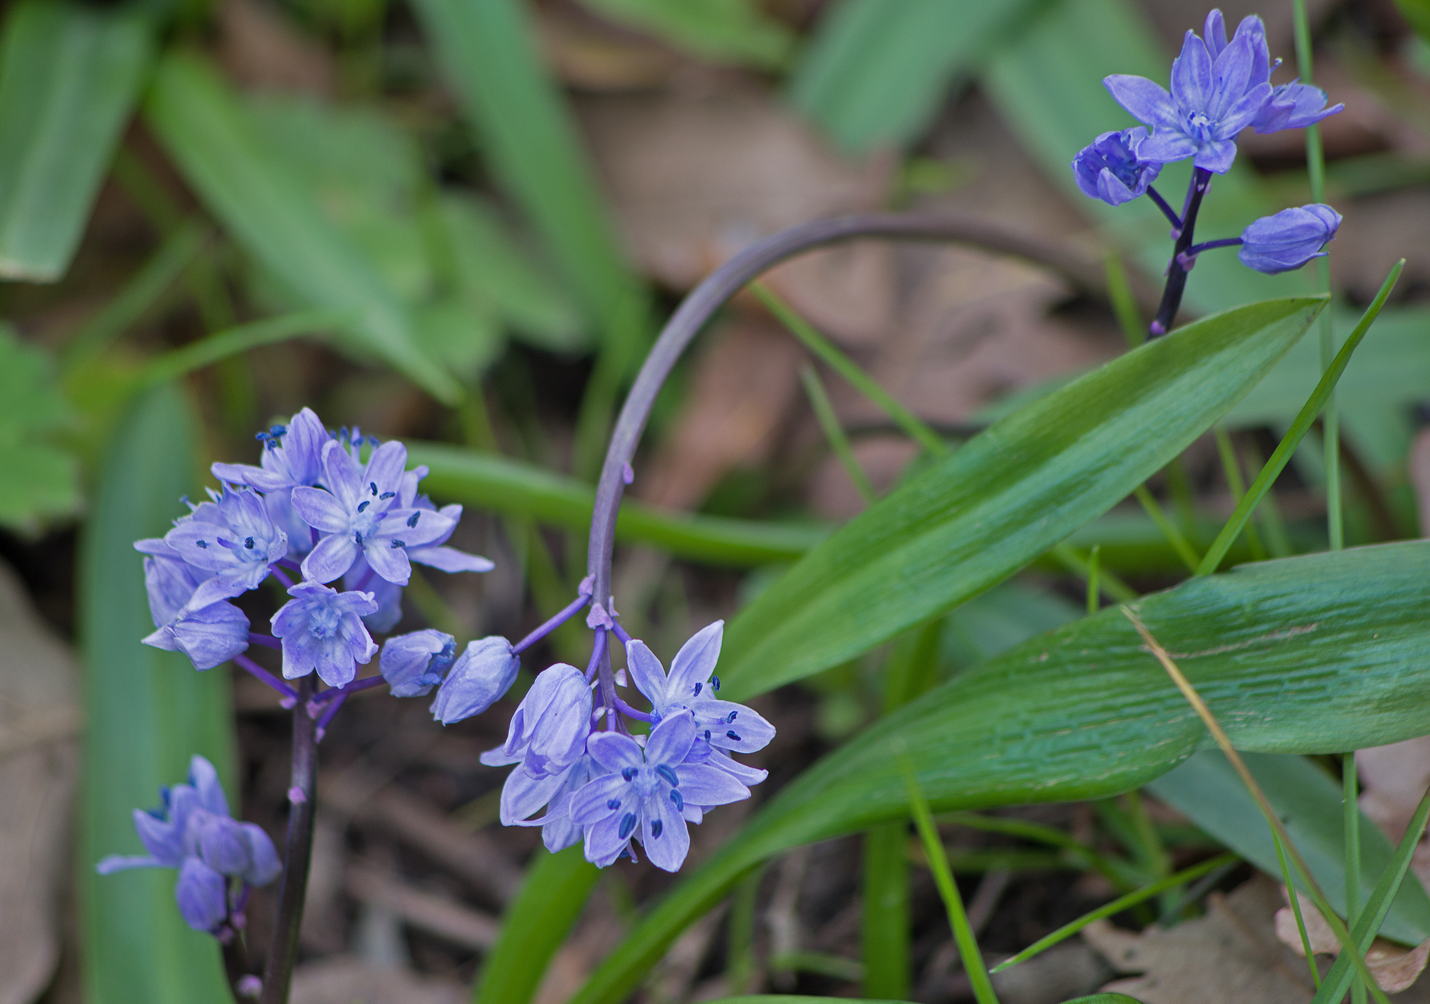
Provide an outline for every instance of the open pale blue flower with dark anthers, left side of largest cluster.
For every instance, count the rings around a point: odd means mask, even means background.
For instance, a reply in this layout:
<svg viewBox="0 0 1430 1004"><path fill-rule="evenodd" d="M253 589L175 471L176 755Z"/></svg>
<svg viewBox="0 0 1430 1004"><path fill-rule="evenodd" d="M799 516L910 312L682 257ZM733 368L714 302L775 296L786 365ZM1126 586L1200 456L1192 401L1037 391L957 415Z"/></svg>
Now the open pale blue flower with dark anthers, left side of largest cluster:
<svg viewBox="0 0 1430 1004"><path fill-rule="evenodd" d="M273 525L263 498L250 488L223 486L209 492L210 502L164 533L184 562L213 576L189 599L190 608L207 606L242 595L269 576L273 562L287 556L287 533Z"/></svg>

